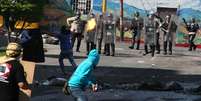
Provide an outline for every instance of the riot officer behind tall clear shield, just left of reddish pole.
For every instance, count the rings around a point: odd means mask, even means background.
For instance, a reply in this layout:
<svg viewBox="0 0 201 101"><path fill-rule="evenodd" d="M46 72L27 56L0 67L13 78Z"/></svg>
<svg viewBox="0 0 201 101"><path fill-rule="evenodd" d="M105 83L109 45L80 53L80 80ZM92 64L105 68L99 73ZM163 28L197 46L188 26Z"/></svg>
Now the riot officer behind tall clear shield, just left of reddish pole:
<svg viewBox="0 0 201 101"><path fill-rule="evenodd" d="M105 55L115 55L115 21L113 15L110 13L104 21L104 42L105 42ZM112 53L110 54L110 46Z"/></svg>

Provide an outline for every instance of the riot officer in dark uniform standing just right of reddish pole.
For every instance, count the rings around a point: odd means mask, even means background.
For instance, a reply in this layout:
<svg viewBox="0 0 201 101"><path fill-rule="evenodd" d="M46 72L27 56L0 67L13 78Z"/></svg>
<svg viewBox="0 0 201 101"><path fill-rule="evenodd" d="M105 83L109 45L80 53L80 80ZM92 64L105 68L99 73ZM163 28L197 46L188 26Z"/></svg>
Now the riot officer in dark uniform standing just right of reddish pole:
<svg viewBox="0 0 201 101"><path fill-rule="evenodd" d="M140 17L140 13L136 12L135 17L132 20L132 44L129 46L130 49L134 48L135 41L137 41L136 49L140 49L140 38L141 38L141 30L143 28L143 19Z"/></svg>

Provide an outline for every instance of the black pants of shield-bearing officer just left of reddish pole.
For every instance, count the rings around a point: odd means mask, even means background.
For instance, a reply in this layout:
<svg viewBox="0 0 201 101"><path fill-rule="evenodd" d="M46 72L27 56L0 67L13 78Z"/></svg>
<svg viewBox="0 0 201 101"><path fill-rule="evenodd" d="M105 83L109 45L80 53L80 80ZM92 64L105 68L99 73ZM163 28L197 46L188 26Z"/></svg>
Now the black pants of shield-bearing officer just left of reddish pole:
<svg viewBox="0 0 201 101"><path fill-rule="evenodd" d="M112 56L114 56L115 54L115 44L114 43L110 43L110 44L105 44L105 55L109 56L110 55L110 46L112 49Z"/></svg>

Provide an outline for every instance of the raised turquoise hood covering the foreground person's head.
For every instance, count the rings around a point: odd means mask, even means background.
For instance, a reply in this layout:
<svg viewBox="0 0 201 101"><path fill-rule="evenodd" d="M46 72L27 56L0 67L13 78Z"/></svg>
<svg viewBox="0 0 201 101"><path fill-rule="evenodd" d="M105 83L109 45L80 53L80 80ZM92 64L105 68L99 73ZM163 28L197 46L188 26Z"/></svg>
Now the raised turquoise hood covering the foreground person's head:
<svg viewBox="0 0 201 101"><path fill-rule="evenodd" d="M89 52L88 59L93 62L93 64L96 66L100 60L100 55L98 54L98 51L96 49L93 49Z"/></svg>

